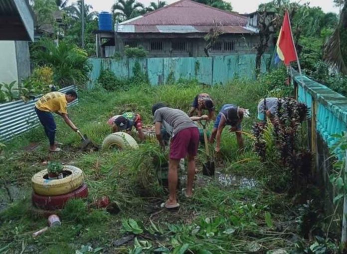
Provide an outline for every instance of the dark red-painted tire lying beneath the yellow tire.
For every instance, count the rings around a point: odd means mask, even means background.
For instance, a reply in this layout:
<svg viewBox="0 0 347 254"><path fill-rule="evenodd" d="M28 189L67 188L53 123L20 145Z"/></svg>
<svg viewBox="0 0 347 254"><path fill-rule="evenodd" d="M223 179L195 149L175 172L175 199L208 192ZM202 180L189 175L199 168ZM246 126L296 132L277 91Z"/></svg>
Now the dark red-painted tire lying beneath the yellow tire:
<svg viewBox="0 0 347 254"><path fill-rule="evenodd" d="M77 190L64 195L58 196L41 196L36 193L32 193L32 204L43 210L56 210L62 209L69 199L86 198L88 196L88 187L83 184Z"/></svg>

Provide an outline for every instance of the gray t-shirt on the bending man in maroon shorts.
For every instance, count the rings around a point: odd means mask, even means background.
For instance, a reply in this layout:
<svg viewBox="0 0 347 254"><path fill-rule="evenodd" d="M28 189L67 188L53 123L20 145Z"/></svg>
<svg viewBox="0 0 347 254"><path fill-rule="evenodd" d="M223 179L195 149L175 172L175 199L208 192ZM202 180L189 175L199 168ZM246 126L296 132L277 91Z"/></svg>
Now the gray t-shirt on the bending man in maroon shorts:
<svg viewBox="0 0 347 254"><path fill-rule="evenodd" d="M191 127L197 128L182 110L168 107L157 109L154 113L154 122L161 122L172 137L181 130Z"/></svg>

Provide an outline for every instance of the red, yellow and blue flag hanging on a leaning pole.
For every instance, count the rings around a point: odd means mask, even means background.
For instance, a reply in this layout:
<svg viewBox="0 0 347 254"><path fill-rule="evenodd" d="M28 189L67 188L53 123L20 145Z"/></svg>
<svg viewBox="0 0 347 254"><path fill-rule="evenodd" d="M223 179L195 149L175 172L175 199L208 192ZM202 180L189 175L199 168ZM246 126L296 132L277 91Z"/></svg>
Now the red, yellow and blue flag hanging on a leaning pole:
<svg viewBox="0 0 347 254"><path fill-rule="evenodd" d="M284 61L286 65L297 60L297 53L292 36L292 28L290 26L289 14L286 13L283 18L283 24L277 40L278 57Z"/></svg>

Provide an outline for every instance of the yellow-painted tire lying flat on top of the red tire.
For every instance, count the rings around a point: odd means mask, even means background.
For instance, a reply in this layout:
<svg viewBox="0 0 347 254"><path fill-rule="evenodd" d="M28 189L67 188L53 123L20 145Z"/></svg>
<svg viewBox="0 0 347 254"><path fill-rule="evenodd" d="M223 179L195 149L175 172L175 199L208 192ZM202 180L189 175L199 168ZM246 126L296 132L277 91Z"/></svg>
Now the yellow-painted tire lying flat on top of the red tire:
<svg viewBox="0 0 347 254"><path fill-rule="evenodd" d="M42 196L58 196L72 192L83 184L84 176L81 169L74 166L64 166L64 171L71 174L62 179L45 179L48 174L47 169L36 173L31 178L32 189L38 195Z"/></svg>

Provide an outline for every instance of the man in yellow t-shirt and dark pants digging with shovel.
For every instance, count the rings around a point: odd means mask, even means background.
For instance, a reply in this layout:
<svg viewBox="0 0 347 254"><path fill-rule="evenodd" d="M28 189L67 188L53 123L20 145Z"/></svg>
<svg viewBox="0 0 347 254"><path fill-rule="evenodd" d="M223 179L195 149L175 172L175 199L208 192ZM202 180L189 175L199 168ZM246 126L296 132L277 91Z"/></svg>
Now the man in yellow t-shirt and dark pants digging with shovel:
<svg viewBox="0 0 347 254"><path fill-rule="evenodd" d="M35 104L35 112L38 119L43 125L44 131L49 139L49 151L61 151L54 142L56 125L52 113L63 117L65 123L74 131L78 131L76 126L71 122L67 115L67 103L75 100L77 94L75 91L67 91L66 94L61 92L50 92L43 95Z"/></svg>

